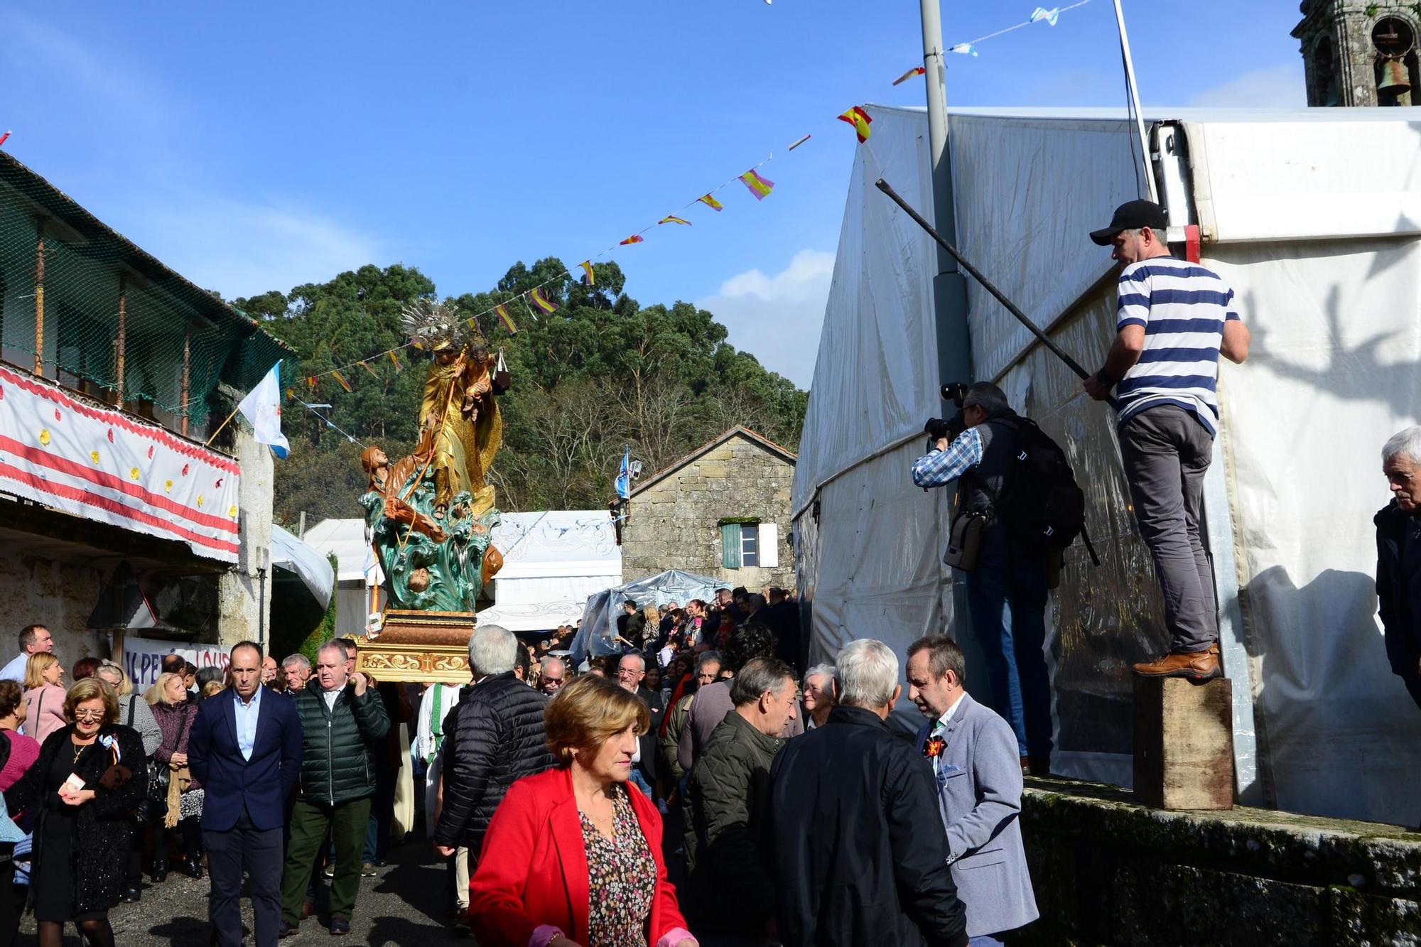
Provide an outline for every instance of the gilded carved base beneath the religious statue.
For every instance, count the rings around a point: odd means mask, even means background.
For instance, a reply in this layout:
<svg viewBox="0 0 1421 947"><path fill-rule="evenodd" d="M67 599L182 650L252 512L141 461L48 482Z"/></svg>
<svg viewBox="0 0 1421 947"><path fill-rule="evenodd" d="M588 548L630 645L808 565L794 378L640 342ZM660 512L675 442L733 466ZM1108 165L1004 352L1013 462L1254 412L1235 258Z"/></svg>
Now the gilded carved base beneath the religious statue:
<svg viewBox="0 0 1421 947"><path fill-rule="evenodd" d="M357 638L355 670L377 681L469 683L472 611L389 609L378 636Z"/></svg>

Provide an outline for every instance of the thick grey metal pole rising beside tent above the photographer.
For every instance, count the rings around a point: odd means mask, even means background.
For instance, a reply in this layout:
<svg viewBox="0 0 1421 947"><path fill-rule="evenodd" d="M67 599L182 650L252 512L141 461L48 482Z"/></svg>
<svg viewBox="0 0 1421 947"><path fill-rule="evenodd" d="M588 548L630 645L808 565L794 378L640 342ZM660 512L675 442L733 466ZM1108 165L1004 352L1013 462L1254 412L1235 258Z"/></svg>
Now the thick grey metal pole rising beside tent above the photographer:
<svg viewBox="0 0 1421 947"><path fill-rule="evenodd" d="M948 97L942 61L941 0L919 0L922 9L922 78L928 85L928 148L932 159L932 218L948 240L958 239L952 206L952 152L948 149ZM958 263L938 247L938 273L932 280L932 307L938 324L939 381L971 381L972 350L968 344L968 284Z"/></svg>

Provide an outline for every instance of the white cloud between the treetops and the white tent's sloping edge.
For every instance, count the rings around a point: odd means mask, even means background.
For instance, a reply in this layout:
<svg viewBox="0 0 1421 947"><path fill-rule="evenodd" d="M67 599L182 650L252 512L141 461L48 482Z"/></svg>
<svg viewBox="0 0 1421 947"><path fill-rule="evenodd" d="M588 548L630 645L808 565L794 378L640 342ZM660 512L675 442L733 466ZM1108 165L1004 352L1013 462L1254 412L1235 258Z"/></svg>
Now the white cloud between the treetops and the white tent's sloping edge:
<svg viewBox="0 0 1421 947"><path fill-rule="evenodd" d="M770 371L809 388L818 354L818 330L834 276L834 255L800 250L779 273L737 273L715 296L696 300L730 330L729 341Z"/></svg>

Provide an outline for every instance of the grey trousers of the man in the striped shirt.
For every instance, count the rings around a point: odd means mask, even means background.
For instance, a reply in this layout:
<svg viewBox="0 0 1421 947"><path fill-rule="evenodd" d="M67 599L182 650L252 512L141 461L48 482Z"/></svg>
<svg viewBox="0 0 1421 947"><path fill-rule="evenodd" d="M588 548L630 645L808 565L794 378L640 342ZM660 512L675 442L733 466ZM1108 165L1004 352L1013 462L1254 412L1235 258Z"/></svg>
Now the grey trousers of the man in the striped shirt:
<svg viewBox="0 0 1421 947"><path fill-rule="evenodd" d="M1167 404L1120 427L1120 454L1135 522L1160 576L1169 650L1204 651L1219 638L1214 570L1199 539L1214 438L1194 414Z"/></svg>

